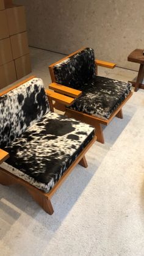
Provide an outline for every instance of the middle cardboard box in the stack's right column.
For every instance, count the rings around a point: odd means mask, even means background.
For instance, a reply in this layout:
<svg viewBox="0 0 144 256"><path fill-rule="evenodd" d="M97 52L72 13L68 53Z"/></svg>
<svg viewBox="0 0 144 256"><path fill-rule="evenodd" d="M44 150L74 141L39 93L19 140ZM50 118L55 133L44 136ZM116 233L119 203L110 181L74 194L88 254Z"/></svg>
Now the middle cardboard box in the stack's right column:
<svg viewBox="0 0 144 256"><path fill-rule="evenodd" d="M10 37L10 42L12 46L13 59L18 59L19 57L29 53L27 32L12 35Z"/></svg>

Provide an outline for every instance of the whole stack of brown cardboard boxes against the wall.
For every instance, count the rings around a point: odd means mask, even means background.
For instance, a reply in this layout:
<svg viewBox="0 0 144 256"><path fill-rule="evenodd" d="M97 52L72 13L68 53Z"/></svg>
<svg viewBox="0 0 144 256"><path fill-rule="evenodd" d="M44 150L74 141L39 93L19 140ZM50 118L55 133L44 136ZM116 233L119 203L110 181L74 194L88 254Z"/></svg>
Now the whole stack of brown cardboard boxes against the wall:
<svg viewBox="0 0 144 256"><path fill-rule="evenodd" d="M0 0L0 89L31 73L23 6Z"/></svg>

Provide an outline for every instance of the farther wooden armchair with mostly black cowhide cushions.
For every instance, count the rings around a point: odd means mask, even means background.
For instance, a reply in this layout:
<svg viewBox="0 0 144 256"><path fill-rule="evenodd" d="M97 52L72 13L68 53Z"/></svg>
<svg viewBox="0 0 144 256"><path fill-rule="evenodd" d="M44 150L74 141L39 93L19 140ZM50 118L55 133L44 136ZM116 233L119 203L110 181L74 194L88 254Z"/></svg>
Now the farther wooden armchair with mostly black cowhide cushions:
<svg viewBox="0 0 144 256"><path fill-rule="evenodd" d="M68 95L73 103L54 107L68 117L95 126L97 140L104 143L101 125L113 117L123 118L122 107L132 96L131 84L98 76L98 65L113 68L115 64L95 59L92 48L82 48L49 66L52 83L49 89Z"/></svg>

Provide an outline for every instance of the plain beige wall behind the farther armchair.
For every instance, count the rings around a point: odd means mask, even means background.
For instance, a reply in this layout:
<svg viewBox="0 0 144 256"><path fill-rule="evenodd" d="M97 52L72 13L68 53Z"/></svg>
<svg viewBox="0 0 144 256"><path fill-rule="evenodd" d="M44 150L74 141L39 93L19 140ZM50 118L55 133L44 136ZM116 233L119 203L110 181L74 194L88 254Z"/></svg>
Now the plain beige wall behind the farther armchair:
<svg viewBox="0 0 144 256"><path fill-rule="evenodd" d="M143 0L15 0L26 7L29 45L70 54L82 46L98 59L137 69L127 61L144 48Z"/></svg>

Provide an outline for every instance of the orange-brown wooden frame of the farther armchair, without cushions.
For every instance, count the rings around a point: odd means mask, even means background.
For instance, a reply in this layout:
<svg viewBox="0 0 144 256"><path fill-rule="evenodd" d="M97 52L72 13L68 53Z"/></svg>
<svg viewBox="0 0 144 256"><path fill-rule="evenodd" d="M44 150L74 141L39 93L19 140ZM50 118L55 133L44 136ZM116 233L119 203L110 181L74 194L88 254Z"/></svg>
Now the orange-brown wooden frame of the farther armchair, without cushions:
<svg viewBox="0 0 144 256"><path fill-rule="evenodd" d="M69 88L69 93L73 89L71 89L70 87L62 86L61 84L56 83L56 79L55 79L55 76L54 76L54 66L56 64L59 64L60 62L62 62L62 60L65 60L68 57L71 57L74 54L78 53L82 49L84 49L84 48L81 48L78 51L68 55L67 57L64 57L63 59L55 62L54 64L49 65L49 73L51 75L51 80L52 80L52 84L49 85L49 89L52 89L52 90L54 90L54 92L59 92L59 93L62 93L64 95L70 95L70 94L68 94L67 89L65 90L64 87ZM107 68L114 68L115 65L116 65L116 64L113 64L113 63L110 63L110 62L105 62L103 60L98 60L98 59L95 60L95 64L96 64L96 74L98 73L98 65L102 66L102 67L107 67ZM63 91L62 91L62 87L63 87ZM81 96L80 93L79 93L79 96ZM132 92L129 93L128 97L120 104L120 106L118 106L118 108L112 113L112 115L110 115L109 119L107 119L107 120L104 120L104 119L101 119L101 118L98 118L98 117L94 117L92 115L88 115L88 114L85 114L85 113L82 113L82 112L79 112L79 111L74 111L73 109L69 109L69 108L67 108L67 106L68 106L67 102L65 103L64 107L63 107L63 104L57 103L57 102L53 106L56 109L59 109L61 111L65 111L65 115L67 115L68 117L73 117L77 120L81 120L82 122L93 125L96 128L97 141L101 142L101 143L104 143L102 125L108 125L112 121L113 117L115 117L115 116L120 118L120 119L123 119L122 107L124 106L126 101L129 100L129 98L131 96L132 96ZM73 97L74 97L74 95L73 95ZM75 95L75 98L77 98L77 95Z"/></svg>

